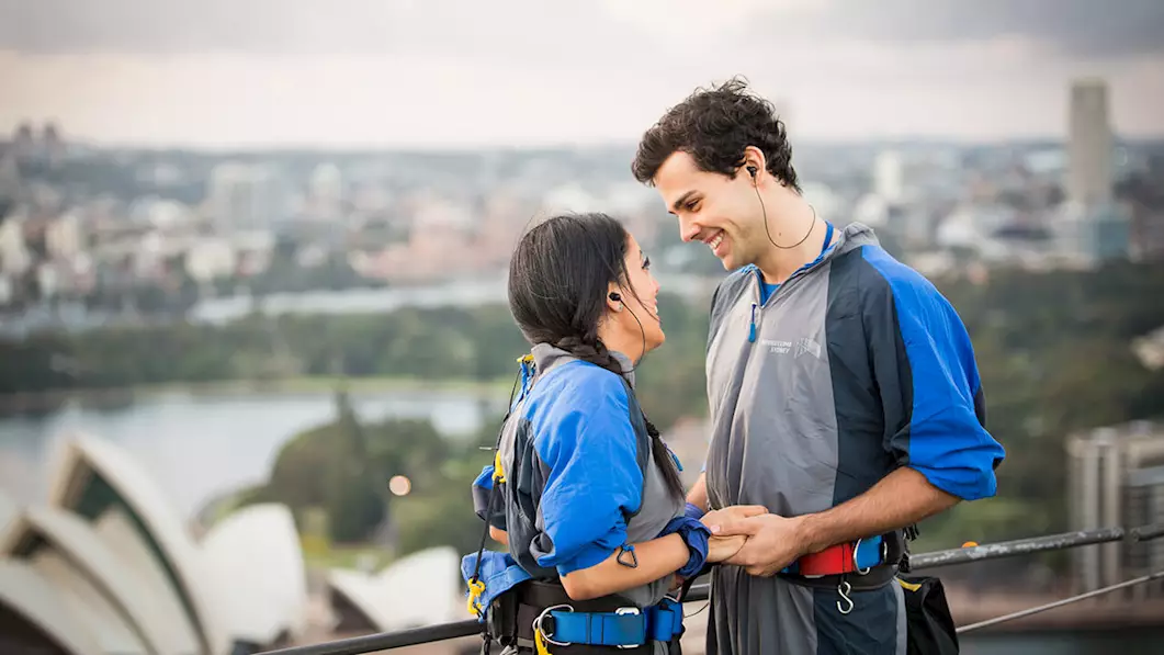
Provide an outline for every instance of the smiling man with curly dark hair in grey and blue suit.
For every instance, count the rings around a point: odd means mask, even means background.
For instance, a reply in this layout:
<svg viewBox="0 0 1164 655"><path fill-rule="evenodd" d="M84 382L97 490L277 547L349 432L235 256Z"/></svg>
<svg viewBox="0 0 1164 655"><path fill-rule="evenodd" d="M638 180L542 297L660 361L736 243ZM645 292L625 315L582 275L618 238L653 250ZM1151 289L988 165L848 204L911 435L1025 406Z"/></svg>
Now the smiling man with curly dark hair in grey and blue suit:
<svg viewBox="0 0 1164 655"><path fill-rule="evenodd" d="M861 225L801 197L785 124L732 80L670 108L632 170L733 271L711 301L711 442L689 512L748 536L708 653L906 653L903 532L995 493L965 327ZM732 506L762 506L759 515Z"/></svg>

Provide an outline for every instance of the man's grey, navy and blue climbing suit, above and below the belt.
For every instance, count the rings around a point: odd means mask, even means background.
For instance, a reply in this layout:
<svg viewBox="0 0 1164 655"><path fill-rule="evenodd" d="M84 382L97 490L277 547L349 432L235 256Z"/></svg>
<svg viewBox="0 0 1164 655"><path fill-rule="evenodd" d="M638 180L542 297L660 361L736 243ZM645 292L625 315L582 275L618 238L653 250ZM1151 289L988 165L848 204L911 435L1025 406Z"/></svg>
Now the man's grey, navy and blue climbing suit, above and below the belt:
<svg viewBox="0 0 1164 655"><path fill-rule="evenodd" d="M985 427L966 328L870 228L838 230L816 261L761 291L759 270L745 266L711 304L711 508L821 512L899 467L960 499L995 493L1005 453ZM708 653L904 655L902 590L886 579L853 591L843 614L836 589L717 567Z"/></svg>

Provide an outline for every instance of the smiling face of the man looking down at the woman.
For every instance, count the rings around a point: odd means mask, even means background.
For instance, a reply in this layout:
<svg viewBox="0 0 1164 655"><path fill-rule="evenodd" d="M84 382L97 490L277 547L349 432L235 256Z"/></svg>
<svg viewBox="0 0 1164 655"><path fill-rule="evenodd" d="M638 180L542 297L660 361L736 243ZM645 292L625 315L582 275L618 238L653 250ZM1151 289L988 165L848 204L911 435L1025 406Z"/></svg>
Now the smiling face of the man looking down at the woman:
<svg viewBox="0 0 1164 655"><path fill-rule="evenodd" d="M755 237L764 237L764 219L751 176L732 179L701 171L690 155L674 152L659 168L654 185L667 211L679 216L683 241L708 244L726 270L755 263L762 252Z"/></svg>

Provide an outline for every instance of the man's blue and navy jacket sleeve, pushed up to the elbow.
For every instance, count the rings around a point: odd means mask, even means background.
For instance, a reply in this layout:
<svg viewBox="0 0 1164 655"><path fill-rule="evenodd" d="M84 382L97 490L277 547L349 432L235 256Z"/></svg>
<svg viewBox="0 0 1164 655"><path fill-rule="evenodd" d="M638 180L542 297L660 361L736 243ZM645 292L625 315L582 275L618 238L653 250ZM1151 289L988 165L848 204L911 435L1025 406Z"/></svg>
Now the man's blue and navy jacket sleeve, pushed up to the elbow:
<svg viewBox="0 0 1164 655"><path fill-rule="evenodd" d="M866 245L874 273L863 319L885 410L885 448L934 486L975 500L994 496L1006 453L986 429L970 335L950 302L920 273Z"/></svg>

